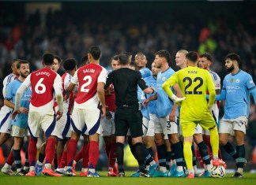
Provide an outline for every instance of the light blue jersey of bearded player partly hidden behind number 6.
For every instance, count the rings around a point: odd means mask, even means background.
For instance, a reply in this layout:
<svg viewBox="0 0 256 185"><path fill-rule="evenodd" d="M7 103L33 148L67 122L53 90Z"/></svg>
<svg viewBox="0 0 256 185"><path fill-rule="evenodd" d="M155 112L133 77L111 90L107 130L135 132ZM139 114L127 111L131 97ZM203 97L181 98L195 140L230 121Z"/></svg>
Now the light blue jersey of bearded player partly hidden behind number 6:
<svg viewBox="0 0 256 185"><path fill-rule="evenodd" d="M15 96L17 89L21 87L20 80L14 80L13 82L9 83L7 86L7 93L5 99L15 103ZM31 98L31 87L28 87L27 91L24 91L21 98L21 105L20 107L25 107L29 109L29 102ZM12 120L12 125L16 125L20 128L28 128L28 114L21 113L15 117L15 120Z"/></svg>

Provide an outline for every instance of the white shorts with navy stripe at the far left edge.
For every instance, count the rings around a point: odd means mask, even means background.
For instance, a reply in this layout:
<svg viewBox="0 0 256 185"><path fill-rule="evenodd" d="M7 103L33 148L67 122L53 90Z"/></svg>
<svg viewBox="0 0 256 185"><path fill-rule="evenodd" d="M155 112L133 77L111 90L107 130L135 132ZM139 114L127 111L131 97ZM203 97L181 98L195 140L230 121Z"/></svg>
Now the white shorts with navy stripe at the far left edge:
<svg viewBox="0 0 256 185"><path fill-rule="evenodd" d="M10 134L12 131L12 112L13 109L9 109L7 106L2 106L0 110L0 133Z"/></svg>

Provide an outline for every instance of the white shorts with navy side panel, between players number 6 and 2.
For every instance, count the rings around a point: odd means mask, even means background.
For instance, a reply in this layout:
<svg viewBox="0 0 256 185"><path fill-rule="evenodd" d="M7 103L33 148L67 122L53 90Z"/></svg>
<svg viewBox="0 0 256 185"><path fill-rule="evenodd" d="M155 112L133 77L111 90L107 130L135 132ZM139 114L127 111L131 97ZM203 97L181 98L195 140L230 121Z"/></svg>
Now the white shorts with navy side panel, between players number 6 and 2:
<svg viewBox="0 0 256 185"><path fill-rule="evenodd" d="M66 111L65 111L66 112ZM58 133L57 137L59 140L71 137L71 116L70 112L63 113L62 117L57 120L55 125L55 131Z"/></svg>

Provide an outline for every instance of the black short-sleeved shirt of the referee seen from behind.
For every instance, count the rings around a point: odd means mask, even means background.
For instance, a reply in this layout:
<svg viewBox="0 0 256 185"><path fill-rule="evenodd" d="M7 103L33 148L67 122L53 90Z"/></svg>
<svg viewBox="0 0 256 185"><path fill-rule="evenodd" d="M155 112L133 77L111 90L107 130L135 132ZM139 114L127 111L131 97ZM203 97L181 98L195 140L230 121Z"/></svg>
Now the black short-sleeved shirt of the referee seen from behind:
<svg viewBox="0 0 256 185"><path fill-rule="evenodd" d="M115 88L115 105L137 105L137 85L141 90L145 90L148 86L142 79L141 72L134 71L130 68L119 68L108 74L108 87L111 83Z"/></svg>

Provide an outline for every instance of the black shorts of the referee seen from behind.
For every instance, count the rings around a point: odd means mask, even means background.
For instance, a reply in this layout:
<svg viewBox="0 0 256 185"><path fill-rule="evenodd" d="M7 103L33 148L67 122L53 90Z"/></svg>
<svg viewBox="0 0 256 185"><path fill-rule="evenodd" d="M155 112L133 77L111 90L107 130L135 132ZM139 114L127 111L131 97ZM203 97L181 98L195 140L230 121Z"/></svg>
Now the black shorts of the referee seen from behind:
<svg viewBox="0 0 256 185"><path fill-rule="evenodd" d="M133 138L143 135L141 111L138 106L118 106L115 110L115 135L126 136L129 128Z"/></svg>

